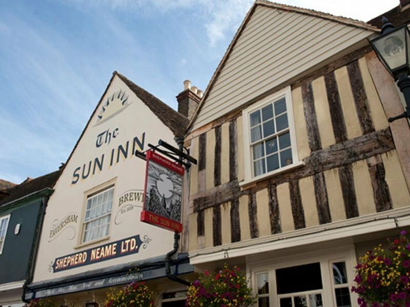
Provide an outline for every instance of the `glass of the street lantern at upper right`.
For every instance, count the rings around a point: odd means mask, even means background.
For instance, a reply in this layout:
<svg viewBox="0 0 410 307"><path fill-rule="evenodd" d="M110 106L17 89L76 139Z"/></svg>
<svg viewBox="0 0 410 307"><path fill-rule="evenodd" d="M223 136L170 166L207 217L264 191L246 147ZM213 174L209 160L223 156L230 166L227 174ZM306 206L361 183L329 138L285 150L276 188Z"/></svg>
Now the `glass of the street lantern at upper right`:
<svg viewBox="0 0 410 307"><path fill-rule="evenodd" d="M376 50L391 71L406 64L405 35L406 29L399 28L373 40Z"/></svg>

